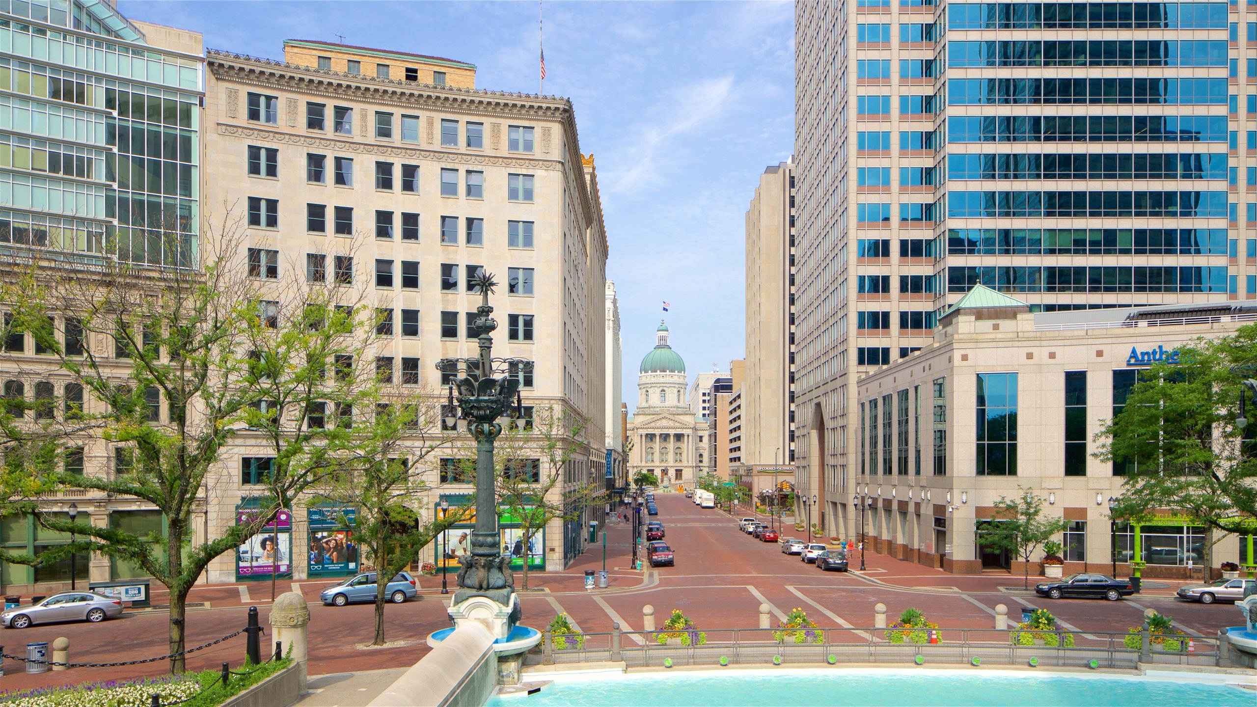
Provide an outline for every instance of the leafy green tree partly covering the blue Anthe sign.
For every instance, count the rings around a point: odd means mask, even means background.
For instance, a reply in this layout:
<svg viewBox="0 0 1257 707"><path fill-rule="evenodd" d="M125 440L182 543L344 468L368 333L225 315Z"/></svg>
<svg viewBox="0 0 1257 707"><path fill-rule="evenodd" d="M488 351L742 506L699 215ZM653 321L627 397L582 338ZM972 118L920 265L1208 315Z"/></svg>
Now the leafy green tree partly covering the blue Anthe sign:
<svg viewBox="0 0 1257 707"><path fill-rule="evenodd" d="M1140 372L1095 438L1096 458L1124 477L1112 517L1138 522L1155 509L1174 509L1210 528L1253 532L1257 425L1237 421L1242 394L1249 419L1257 418L1243 384L1253 377L1257 325L1179 346L1174 362Z"/></svg>

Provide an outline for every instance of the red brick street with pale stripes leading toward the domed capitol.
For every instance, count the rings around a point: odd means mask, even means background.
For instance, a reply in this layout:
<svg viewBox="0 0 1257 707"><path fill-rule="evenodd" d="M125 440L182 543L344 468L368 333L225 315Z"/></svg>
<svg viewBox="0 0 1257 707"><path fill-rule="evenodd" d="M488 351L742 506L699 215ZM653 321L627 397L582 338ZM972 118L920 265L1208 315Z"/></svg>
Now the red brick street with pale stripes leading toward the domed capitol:
<svg viewBox="0 0 1257 707"><path fill-rule="evenodd" d="M625 630L641 630L642 606L652 605L660 623L672 609L680 609L704 629L754 628L762 603L772 609L774 625L777 618L797 606L823 628L871 626L877 603L886 605L890 620L914 606L940 628L993 628L997 604L1008 606L1013 620L1019 618L1024 605L1048 608L1065 628L1080 632L1125 632L1138 625L1149 608L1173 616L1179 628L1192 635L1213 637L1219 628L1239 623L1239 613L1229 604L1200 605L1174 599L1174 590L1182 582L1168 580L1145 582L1141 594L1116 603L1089 599L1051 601L1035 596L1033 590L1022 591L1021 576L1003 572L950 575L871 552L866 555L866 572L821 572L797 556L783 555L776 542L759 542L740 532L737 518L723 511L701 509L680 496L661 494L657 499L657 520L664 522L666 541L676 551L675 567L632 571L628 525L613 522L606 528L610 586L585 589L585 570L601 570L603 566L602 545L591 546L563 572L530 575L532 590L520 595L523 623L541 629L556 613L566 611L583 632L611 630L612 621L620 621ZM852 560L852 566L859 567L859 554ZM1092 571L1107 572L1109 566L1097 565ZM371 605L323 606L318 594L332 584L328 581L277 582L279 593L300 591L310 603L309 673L403 667L422 657L427 652L424 643L427 634L450 625L445 613L450 595L440 594L440 577L420 580L419 600L386 609L387 639L405 644L378 649L356 648L356 644L372 638ZM449 580L453 593L454 576L450 575ZM517 587L520 581L517 574ZM1032 575L1031 584L1035 581ZM187 613L189 647L244 628L248 608L258 606L261 625L266 626L263 634L263 652L266 652L270 640L266 620L270 611L269 582L200 586L192 590L190 600L202 603L205 608ZM165 603L165 594L155 591L153 601ZM58 637L67 637L70 640L70 662L134 660L166 654L166 625L165 611L128 610L122 618L103 624L5 629L0 633L0 643L5 653L24 654L26 643L52 643ZM273 650L274 643L269 645ZM191 669L217 668L229 660L235 667L244 654L245 638L239 635L192 653L187 665ZM13 691L157 676L166 672L167 664L74 668L28 676L21 663L5 660L4 669L0 689Z"/></svg>

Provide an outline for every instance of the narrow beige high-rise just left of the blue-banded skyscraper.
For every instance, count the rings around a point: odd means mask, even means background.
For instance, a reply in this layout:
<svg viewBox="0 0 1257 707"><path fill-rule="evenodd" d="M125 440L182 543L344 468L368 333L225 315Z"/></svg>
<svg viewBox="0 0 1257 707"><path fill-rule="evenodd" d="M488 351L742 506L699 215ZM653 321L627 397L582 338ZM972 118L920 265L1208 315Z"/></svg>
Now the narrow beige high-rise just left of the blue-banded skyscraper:
<svg viewBox="0 0 1257 707"><path fill-rule="evenodd" d="M747 209L747 371L740 391L744 465L794 459L792 170L789 162L764 170Z"/></svg>

